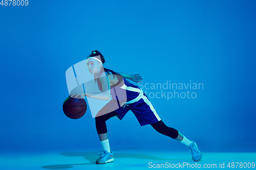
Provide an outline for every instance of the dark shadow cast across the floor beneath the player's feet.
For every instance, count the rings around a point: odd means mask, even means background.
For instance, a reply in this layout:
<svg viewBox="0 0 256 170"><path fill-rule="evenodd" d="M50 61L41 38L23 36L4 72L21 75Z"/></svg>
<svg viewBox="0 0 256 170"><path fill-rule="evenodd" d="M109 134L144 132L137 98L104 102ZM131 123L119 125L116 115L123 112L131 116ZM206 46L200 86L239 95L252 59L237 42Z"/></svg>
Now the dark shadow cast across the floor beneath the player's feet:
<svg viewBox="0 0 256 170"><path fill-rule="evenodd" d="M126 149L115 149L112 150L114 153L114 158L136 158L136 159L149 159L149 160L164 160L164 161L184 161L184 160L191 160L191 159L184 159L184 158L175 158L175 159L166 159L166 158L161 158L161 157L156 157L156 156L151 156L151 155L145 155L145 154L130 154L130 153L117 153L115 154L115 151L120 151L120 150L137 150L139 148L126 148ZM91 163L79 163L79 164L60 164L60 165L46 165L42 166L42 168L46 169L68 169L72 168L73 165L91 165L95 164L95 161L99 158L99 153L102 151L94 151L94 152L65 152L61 153L60 155L62 156L68 156L68 157L77 157L77 156L82 156L84 159L89 160Z"/></svg>

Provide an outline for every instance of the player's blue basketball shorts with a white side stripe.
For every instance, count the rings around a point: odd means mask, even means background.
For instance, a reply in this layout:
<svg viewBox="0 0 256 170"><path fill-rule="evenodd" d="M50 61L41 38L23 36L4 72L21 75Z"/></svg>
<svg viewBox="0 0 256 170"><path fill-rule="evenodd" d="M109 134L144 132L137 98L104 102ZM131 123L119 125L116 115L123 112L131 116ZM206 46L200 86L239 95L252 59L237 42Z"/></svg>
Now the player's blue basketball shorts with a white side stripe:
<svg viewBox="0 0 256 170"><path fill-rule="evenodd" d="M125 105L124 107L116 108L117 101L113 99L109 103L107 103L105 106L115 110L115 112L119 115L118 118L120 120L124 117L124 115L129 110L131 110L136 116L136 118L138 119L140 126L154 124L161 120L155 108L152 106L150 100L148 100L144 92L143 92L142 98L139 101Z"/></svg>

